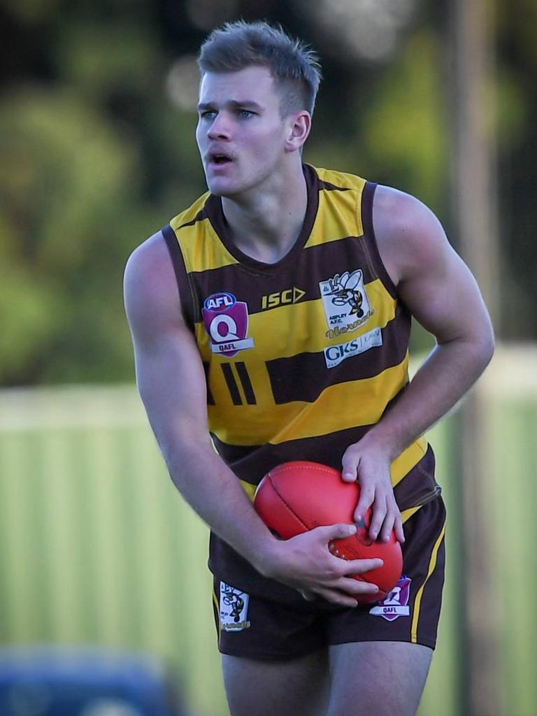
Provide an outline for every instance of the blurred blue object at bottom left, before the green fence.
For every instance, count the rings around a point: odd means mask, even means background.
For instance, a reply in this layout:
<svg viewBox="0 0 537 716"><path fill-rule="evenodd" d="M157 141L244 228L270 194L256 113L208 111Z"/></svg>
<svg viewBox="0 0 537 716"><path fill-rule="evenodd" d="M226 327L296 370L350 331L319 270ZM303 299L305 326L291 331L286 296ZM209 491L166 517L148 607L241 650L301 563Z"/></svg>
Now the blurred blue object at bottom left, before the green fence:
<svg viewBox="0 0 537 716"><path fill-rule="evenodd" d="M0 716L185 716L163 664L102 647L0 649Z"/></svg>

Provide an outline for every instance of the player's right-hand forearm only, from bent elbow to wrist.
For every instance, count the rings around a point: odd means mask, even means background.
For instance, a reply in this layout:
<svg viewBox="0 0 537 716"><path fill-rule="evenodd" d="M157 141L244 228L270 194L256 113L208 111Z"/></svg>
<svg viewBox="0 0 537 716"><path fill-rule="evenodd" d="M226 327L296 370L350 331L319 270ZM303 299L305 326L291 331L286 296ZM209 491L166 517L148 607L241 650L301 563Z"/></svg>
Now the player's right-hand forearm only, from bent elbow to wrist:
<svg viewBox="0 0 537 716"><path fill-rule="evenodd" d="M489 342L458 339L437 345L394 407L367 433L367 442L397 458L468 392L492 352Z"/></svg>

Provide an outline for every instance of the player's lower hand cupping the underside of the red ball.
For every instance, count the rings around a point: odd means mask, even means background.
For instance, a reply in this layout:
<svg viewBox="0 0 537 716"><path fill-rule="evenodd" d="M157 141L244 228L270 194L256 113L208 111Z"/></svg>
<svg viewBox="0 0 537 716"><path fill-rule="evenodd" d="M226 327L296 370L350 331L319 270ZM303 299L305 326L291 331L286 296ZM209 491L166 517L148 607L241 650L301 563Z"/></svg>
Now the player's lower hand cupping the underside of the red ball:
<svg viewBox="0 0 537 716"><path fill-rule="evenodd" d="M304 599L321 596L333 604L357 606L353 595L375 594L378 587L353 579L382 566L382 559L344 560L329 551L333 539L349 537L354 525L336 524L316 527L287 540L274 540L257 566L261 574L301 592Z"/></svg>

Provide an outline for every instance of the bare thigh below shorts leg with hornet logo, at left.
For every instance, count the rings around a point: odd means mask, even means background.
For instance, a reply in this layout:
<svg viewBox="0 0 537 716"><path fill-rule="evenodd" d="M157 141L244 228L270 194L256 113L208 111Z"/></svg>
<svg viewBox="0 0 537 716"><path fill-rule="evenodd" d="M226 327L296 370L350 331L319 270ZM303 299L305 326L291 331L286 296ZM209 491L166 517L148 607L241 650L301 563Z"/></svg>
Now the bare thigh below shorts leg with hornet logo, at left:
<svg viewBox="0 0 537 716"><path fill-rule="evenodd" d="M222 654L222 669L231 716L326 714L329 686L326 649L278 661Z"/></svg>

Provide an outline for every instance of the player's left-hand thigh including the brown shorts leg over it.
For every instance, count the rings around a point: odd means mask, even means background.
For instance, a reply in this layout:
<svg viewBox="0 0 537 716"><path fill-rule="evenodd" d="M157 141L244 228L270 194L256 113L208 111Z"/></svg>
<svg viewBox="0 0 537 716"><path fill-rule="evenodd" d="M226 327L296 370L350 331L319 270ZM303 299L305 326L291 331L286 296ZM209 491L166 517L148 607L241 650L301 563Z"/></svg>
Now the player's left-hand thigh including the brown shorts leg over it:
<svg viewBox="0 0 537 716"><path fill-rule="evenodd" d="M214 586L231 716L324 716L328 648L316 606L279 604L217 578Z"/></svg>

